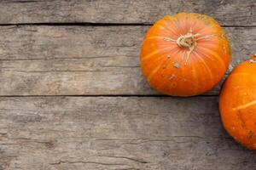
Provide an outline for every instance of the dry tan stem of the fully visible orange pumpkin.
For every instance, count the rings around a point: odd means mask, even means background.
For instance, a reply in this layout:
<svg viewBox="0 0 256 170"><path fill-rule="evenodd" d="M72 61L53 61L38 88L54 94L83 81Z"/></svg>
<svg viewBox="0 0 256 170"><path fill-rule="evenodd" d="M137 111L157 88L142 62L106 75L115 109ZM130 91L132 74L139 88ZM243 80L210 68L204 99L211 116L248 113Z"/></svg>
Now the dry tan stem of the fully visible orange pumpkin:
<svg viewBox="0 0 256 170"><path fill-rule="evenodd" d="M187 53L187 58L185 60L185 65L187 65L187 62L189 60L189 56L192 53L192 51L195 49L195 35L193 35L191 32L187 33L186 35L181 35L176 40L177 45L181 48L189 48L189 51Z"/></svg>

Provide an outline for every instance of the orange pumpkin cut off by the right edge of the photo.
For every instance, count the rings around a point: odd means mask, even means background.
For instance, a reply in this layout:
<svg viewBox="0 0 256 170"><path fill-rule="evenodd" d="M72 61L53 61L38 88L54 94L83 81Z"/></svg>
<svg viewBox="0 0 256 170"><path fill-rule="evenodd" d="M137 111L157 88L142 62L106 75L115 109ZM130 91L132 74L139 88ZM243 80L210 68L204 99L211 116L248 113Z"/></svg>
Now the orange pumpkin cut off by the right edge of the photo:
<svg viewBox="0 0 256 170"><path fill-rule="evenodd" d="M239 143L256 150L256 54L238 65L219 96L224 128Z"/></svg>

